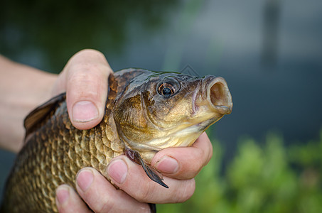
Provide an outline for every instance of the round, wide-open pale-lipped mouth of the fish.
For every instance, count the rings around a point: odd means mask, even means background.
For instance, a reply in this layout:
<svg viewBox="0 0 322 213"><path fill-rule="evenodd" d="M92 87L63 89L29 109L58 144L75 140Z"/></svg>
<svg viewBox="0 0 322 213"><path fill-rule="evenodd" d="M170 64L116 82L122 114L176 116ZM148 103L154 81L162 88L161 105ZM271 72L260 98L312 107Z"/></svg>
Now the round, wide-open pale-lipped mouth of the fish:
<svg viewBox="0 0 322 213"><path fill-rule="evenodd" d="M222 77L215 77L210 81L207 87L207 99L214 111L222 115L232 112L232 96Z"/></svg>

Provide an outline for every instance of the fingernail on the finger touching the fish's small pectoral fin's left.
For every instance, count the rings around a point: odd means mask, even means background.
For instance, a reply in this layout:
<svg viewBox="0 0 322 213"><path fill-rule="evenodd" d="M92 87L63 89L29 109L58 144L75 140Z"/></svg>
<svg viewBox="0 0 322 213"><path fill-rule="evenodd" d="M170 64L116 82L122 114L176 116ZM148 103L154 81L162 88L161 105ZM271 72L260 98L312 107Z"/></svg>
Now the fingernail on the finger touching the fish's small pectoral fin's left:
<svg viewBox="0 0 322 213"><path fill-rule="evenodd" d="M113 160L109 163L107 173L109 174L109 178L122 184L125 178L127 178L127 163L124 160Z"/></svg>

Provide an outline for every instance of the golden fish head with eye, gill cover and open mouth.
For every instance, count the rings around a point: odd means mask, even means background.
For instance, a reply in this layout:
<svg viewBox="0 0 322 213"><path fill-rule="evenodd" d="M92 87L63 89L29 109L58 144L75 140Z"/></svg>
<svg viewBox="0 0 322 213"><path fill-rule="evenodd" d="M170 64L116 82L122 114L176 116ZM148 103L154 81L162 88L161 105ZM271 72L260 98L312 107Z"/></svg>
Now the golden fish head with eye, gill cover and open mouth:
<svg viewBox="0 0 322 213"><path fill-rule="evenodd" d="M232 111L222 77L143 72L124 87L114 120L125 145L151 160L156 151L191 146L205 129Z"/></svg>

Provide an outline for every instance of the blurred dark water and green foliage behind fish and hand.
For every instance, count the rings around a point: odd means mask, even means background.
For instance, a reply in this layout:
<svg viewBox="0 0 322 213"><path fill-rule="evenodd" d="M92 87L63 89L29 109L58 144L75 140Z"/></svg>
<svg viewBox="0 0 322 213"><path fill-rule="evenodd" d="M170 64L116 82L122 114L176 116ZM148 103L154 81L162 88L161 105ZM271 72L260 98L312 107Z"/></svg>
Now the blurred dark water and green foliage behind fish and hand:
<svg viewBox="0 0 322 213"><path fill-rule="evenodd" d="M322 212L322 1L0 2L0 54L59 73L84 48L230 87L195 195L160 212ZM13 160L0 152L1 189Z"/></svg>

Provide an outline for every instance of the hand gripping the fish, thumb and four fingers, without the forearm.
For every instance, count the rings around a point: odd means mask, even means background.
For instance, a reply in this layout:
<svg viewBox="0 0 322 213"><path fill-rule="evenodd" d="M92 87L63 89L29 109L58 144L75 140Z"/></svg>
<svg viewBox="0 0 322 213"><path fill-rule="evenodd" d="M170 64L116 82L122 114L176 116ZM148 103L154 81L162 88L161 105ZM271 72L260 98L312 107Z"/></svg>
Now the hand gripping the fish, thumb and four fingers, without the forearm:
<svg viewBox="0 0 322 213"><path fill-rule="evenodd" d="M77 129L90 129L102 120L107 76L111 72L102 53L82 50L70 59L58 77L54 92L67 92L68 114ZM77 102L80 105L77 106ZM107 168L109 178L120 190L97 170L83 168L76 178L78 195L68 185L58 187L58 209L60 212L91 212L90 209L94 212L150 212L146 203L184 202L193 195L193 178L208 163L212 151L209 138L203 133L191 147L167 148L156 153L151 166L163 173L168 189L150 180L141 166L125 155L114 158Z"/></svg>

